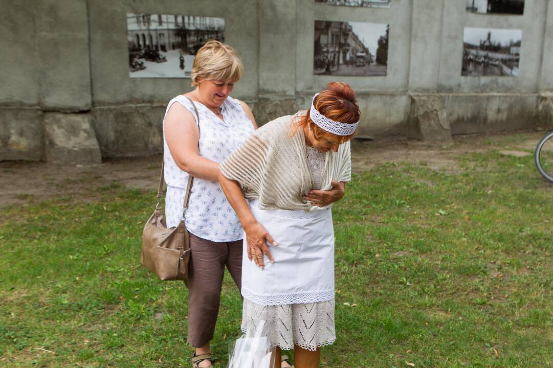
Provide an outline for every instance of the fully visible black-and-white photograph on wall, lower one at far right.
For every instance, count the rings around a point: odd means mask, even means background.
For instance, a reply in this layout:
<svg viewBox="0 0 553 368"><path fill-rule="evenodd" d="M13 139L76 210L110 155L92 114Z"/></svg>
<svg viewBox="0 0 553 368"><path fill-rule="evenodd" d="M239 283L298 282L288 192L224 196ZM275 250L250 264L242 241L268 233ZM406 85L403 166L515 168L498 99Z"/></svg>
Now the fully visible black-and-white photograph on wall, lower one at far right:
<svg viewBox="0 0 553 368"><path fill-rule="evenodd" d="M464 76L511 76L519 74L522 30L465 28Z"/></svg>

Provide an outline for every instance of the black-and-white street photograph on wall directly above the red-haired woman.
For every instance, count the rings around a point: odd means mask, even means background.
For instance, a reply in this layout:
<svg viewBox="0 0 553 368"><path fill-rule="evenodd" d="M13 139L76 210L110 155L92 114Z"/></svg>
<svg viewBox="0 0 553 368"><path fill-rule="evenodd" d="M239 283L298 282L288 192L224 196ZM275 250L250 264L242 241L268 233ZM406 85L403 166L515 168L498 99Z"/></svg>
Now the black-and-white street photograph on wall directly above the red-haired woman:
<svg viewBox="0 0 553 368"><path fill-rule="evenodd" d="M315 20L313 73L385 76L388 24Z"/></svg>

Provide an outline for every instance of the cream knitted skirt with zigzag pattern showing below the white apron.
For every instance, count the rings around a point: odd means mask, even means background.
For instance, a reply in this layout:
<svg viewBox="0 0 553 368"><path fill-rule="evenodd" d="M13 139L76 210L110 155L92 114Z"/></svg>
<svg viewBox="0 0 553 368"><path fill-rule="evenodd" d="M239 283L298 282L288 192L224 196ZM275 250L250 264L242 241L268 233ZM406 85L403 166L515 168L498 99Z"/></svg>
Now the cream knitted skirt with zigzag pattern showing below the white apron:
<svg viewBox="0 0 553 368"><path fill-rule="evenodd" d="M265 321L263 336L271 347L290 350L294 345L315 351L336 340L334 329L334 299L326 302L262 306L244 299L242 332L255 335L259 320Z"/></svg>

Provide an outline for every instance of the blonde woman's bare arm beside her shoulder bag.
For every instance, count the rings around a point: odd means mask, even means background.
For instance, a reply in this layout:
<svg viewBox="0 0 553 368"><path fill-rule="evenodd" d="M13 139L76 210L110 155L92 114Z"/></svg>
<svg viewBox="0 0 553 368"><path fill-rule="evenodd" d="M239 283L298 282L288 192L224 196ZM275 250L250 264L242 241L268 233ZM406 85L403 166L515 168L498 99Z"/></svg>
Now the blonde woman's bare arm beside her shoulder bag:
<svg viewBox="0 0 553 368"><path fill-rule="evenodd" d="M194 177L218 180L219 164L200 156L200 131L194 115L180 103L174 103L165 117L165 140L173 160L182 171Z"/></svg>

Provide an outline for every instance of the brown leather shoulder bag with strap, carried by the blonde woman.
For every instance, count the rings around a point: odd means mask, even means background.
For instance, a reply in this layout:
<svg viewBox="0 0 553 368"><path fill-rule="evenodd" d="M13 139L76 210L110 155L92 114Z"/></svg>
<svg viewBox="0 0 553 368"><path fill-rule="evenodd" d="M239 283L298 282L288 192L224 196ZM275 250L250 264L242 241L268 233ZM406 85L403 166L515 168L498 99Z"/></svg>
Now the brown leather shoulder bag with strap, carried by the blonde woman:
<svg viewBox="0 0 553 368"><path fill-rule="evenodd" d="M194 102L190 98L188 100L194 107L194 112L198 119L198 129L200 129L200 115ZM140 257L140 261L161 280L184 280L186 283L188 281L188 264L190 262L190 234L186 231L185 214L194 177L190 175L188 178L186 196L184 198L184 211L182 211L180 223L177 227L168 229L160 206L161 193L163 192L164 162L165 160L161 162L158 204L156 204L155 211L144 225L142 232L142 256Z"/></svg>

